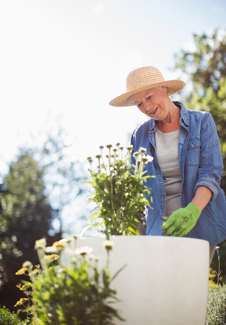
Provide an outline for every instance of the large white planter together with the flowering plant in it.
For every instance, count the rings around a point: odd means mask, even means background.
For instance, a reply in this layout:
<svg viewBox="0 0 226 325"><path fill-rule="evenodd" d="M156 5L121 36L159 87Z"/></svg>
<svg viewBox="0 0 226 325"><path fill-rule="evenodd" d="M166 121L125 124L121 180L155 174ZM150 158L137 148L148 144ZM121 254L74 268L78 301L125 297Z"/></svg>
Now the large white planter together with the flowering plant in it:
<svg viewBox="0 0 226 325"><path fill-rule="evenodd" d="M149 204L150 189L145 186L143 171L145 148L134 153L136 164L122 159L120 144L100 147L97 167L90 162L94 189L89 201L96 203L91 216L92 227L104 233L114 243L109 264L116 272L113 282L119 302L116 304L125 324L205 324L208 295L209 244L205 240L168 236L139 236L144 232L142 212ZM128 147L129 157L132 147ZM106 154L104 153L106 152ZM148 216L149 217L149 216ZM93 222L95 222L93 224ZM132 236L124 236L132 235ZM138 236L133 236L138 235ZM101 237L78 238L79 246L92 246L95 254L103 256ZM75 247L74 247L75 248ZM64 263L67 264L67 255ZM116 320L115 324L121 324Z"/></svg>

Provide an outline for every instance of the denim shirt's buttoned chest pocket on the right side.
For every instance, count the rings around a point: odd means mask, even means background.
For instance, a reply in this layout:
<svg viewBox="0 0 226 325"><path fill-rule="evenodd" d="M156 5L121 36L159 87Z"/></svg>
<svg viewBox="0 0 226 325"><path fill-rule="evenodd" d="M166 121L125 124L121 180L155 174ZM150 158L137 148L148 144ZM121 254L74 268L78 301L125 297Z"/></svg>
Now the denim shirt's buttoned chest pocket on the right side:
<svg viewBox="0 0 226 325"><path fill-rule="evenodd" d="M185 156L185 166L199 166L200 162L200 139L191 138L188 141L186 156Z"/></svg>

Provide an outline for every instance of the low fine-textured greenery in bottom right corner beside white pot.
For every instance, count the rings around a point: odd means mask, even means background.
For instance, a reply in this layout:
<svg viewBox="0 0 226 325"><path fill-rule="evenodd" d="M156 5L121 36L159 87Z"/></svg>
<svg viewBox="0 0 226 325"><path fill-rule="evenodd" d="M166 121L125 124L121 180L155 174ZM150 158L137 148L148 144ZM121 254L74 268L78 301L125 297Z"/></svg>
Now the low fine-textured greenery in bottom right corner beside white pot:
<svg viewBox="0 0 226 325"><path fill-rule="evenodd" d="M217 304L217 313L216 313ZM224 325L226 308L226 285L209 285L207 303L207 325ZM217 315L216 315L217 314ZM216 322L215 322L216 321Z"/></svg>

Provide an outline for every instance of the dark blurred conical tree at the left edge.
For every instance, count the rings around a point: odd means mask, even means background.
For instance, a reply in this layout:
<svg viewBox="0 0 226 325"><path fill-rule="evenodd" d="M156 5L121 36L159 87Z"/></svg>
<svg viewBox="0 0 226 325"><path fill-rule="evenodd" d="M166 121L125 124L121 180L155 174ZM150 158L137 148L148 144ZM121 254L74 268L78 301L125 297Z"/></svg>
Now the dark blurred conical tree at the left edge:
<svg viewBox="0 0 226 325"><path fill-rule="evenodd" d="M13 291L18 282L15 272L27 259L38 264L33 251L35 240L47 238L52 228L53 209L43 194L43 172L44 168L32 155L21 153L18 160L11 163L0 191L1 284L6 283L1 290L1 300L4 297L1 304L11 308L18 292ZM60 234L57 238L60 239Z"/></svg>

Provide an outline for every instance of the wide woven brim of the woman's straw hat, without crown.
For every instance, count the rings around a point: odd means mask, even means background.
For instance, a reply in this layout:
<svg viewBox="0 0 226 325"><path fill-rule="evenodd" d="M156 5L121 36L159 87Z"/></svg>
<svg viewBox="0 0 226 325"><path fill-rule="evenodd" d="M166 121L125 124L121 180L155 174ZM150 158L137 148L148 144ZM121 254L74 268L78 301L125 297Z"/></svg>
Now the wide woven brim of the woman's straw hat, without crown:
<svg viewBox="0 0 226 325"><path fill-rule="evenodd" d="M144 85L142 87L138 87L136 89L133 89L131 91L128 91L127 93L124 93L113 100L110 101L109 105L116 106L116 107L125 107L125 106L134 106L134 102L129 100L128 97L139 93L142 90L155 88L155 87L161 87L166 86L167 94L168 96L171 96L173 94L178 93L181 89L184 88L184 81L182 80L169 80L169 81L161 81L154 84Z"/></svg>

